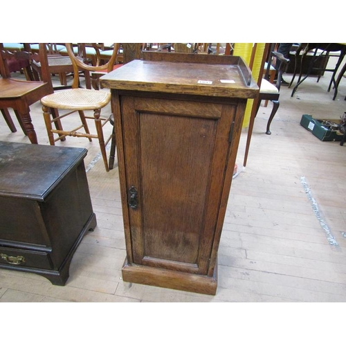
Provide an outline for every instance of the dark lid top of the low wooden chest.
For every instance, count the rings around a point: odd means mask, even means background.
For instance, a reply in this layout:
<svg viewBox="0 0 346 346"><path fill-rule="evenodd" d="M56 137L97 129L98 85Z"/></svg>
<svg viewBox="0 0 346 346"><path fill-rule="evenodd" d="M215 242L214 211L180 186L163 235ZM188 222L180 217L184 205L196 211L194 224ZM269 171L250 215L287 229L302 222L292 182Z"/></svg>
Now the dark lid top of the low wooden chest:
<svg viewBox="0 0 346 346"><path fill-rule="evenodd" d="M44 201L86 153L84 148L0 141L0 196Z"/></svg>

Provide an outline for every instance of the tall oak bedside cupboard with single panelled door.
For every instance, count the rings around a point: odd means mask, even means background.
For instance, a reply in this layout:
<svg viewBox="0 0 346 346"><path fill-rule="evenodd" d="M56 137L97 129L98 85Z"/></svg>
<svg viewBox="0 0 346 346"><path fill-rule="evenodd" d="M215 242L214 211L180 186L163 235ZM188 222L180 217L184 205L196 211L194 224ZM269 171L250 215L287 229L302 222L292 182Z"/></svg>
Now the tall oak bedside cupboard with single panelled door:
<svg viewBox="0 0 346 346"><path fill-rule="evenodd" d="M143 52L101 78L116 123L126 282L214 295L248 98L239 57Z"/></svg>

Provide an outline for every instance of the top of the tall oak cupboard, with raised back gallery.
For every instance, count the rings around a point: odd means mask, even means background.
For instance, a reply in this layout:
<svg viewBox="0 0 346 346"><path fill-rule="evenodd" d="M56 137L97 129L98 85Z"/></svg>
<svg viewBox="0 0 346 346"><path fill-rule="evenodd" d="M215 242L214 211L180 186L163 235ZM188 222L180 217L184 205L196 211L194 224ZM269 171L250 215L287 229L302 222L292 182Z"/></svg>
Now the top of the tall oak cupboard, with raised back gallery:
<svg viewBox="0 0 346 346"><path fill-rule="evenodd" d="M144 55L143 55L144 56ZM258 86L240 57L151 54L100 78L109 89L255 98Z"/></svg>

